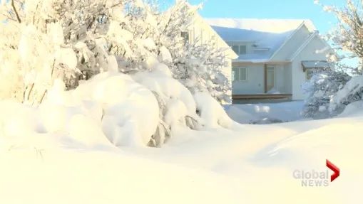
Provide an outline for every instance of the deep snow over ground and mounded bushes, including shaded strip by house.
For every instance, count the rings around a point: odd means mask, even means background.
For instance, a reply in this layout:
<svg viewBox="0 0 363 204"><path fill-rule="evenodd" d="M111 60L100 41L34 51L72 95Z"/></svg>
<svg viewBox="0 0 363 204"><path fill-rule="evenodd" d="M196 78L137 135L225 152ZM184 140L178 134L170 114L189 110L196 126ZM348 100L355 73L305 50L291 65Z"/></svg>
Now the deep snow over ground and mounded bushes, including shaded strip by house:
<svg viewBox="0 0 363 204"><path fill-rule="evenodd" d="M362 203L362 102L334 119L238 124L210 96L186 95L159 71L103 73L68 92L57 81L39 107L1 101L0 203ZM150 90L171 106L173 135L162 148L145 146L159 119ZM300 105L227 112L292 120ZM180 122L189 106L200 111L198 131ZM293 178L327 171L326 159L342 172L329 186Z"/></svg>

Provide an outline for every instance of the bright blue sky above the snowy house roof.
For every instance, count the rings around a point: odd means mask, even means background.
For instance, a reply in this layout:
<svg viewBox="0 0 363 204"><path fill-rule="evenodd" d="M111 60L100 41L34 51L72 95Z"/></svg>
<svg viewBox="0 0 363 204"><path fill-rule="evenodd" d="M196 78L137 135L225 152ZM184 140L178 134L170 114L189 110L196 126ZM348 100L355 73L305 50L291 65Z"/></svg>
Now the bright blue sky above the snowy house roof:
<svg viewBox="0 0 363 204"><path fill-rule="evenodd" d="M175 0L160 0L162 6ZM309 18L324 34L336 22L333 14L322 11L314 0L190 0L191 4L204 3L200 14L205 18ZM324 5L343 6L346 0L320 0Z"/></svg>

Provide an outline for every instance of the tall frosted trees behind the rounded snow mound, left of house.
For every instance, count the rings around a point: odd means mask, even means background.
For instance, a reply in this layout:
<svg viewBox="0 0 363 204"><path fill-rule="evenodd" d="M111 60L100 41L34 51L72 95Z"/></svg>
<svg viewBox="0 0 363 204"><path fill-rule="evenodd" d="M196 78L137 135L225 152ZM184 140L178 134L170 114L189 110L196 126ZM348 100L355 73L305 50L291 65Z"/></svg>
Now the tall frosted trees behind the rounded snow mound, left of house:
<svg viewBox="0 0 363 204"><path fill-rule="evenodd" d="M229 87L221 70L227 61L214 41L188 43L181 36L197 9L185 0L163 14L143 0L1 0L0 99L40 104L54 95L55 81L73 90L81 80L106 76L99 73L121 72L130 77L119 80L147 87L158 102L150 146L163 144L180 125L208 125L193 95L225 100Z"/></svg>

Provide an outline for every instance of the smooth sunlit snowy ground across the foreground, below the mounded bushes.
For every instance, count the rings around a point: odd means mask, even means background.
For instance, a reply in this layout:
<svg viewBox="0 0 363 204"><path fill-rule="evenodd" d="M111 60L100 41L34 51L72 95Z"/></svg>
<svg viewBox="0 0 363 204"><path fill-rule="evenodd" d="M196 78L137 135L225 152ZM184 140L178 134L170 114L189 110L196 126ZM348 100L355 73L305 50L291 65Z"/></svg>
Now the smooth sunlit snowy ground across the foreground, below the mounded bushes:
<svg viewBox="0 0 363 204"><path fill-rule="evenodd" d="M180 128L163 148L1 148L0 203L362 203L363 113L319 121ZM40 143L41 141L41 143ZM41 146L41 147L40 147ZM297 169L341 169L302 187Z"/></svg>

